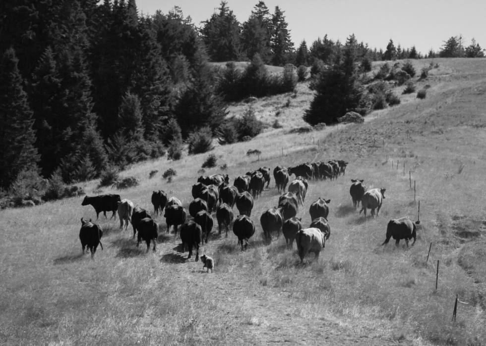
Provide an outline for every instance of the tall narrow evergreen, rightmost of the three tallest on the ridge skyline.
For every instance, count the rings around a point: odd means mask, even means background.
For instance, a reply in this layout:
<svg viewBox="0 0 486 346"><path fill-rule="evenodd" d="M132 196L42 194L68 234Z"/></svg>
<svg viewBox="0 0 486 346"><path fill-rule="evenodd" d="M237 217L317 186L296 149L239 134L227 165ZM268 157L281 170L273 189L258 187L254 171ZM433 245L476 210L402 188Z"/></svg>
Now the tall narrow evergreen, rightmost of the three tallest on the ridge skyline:
<svg viewBox="0 0 486 346"><path fill-rule="evenodd" d="M293 62L294 43L290 40L290 30L287 29L284 11L275 6L271 22L270 48L272 49L272 64L283 66Z"/></svg>

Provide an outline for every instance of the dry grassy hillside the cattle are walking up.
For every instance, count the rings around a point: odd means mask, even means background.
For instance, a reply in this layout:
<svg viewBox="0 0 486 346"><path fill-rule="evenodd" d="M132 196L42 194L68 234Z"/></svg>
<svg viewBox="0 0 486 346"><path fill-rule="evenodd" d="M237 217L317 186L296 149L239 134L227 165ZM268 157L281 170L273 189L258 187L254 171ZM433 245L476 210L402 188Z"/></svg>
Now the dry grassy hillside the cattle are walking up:
<svg viewBox="0 0 486 346"><path fill-rule="evenodd" d="M429 63L414 61L418 71ZM273 177L255 201L251 218L257 231L246 252L231 231L226 239L213 230L202 247L200 254L215 259L214 274L203 272L201 262L186 260L179 235L167 234L161 217L155 254L146 253L145 245L135 247L131 226L120 231L118 218L100 217L104 250L98 248L91 260L81 255L78 234L80 218L96 214L81 206L81 198L1 211L0 343L484 345L486 59L434 63L438 68L417 81L418 89L429 86L426 99L402 95L400 105L371 113L364 124L291 133L304 126L301 117L312 98L301 84L295 98L288 94L254 104L265 123L278 119L283 128L268 127L252 141L214 149L231 182L260 166L273 171L277 164L349 162L345 176L309 185L298 217L307 227L310 203L330 198L331 237L319 260L308 255L304 266L298 265L295 245L286 249L283 237L274 236L269 246L262 241L260 215L278 203ZM231 105L230 113L241 114L245 107ZM261 150L260 160L246 156L248 149ZM162 189L187 207L206 156L132 166L122 175L137 176L140 186L103 193L119 193L153 211L151 193ZM170 183L161 177L168 168L177 171ZM154 169L159 173L149 179ZM364 179L367 188L386 188L379 217L365 220L353 208L349 187L355 178ZM97 192L97 183L83 186L88 195ZM396 248L392 241L382 247L388 221L417 219L419 200L416 245ZM456 294L464 303L451 322Z"/></svg>

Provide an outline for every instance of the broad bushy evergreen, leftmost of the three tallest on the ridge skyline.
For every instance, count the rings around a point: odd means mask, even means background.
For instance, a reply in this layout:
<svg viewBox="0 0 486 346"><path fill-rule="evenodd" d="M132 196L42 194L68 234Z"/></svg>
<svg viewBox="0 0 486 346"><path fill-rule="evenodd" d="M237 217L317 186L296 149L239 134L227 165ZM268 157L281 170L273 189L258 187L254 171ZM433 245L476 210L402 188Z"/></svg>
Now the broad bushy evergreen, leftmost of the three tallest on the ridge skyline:
<svg viewBox="0 0 486 346"><path fill-rule="evenodd" d="M219 13L203 22L202 40L213 61L239 60L241 53L240 23L235 14L221 1Z"/></svg>

